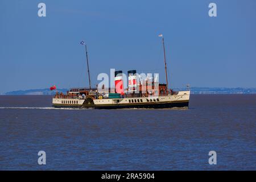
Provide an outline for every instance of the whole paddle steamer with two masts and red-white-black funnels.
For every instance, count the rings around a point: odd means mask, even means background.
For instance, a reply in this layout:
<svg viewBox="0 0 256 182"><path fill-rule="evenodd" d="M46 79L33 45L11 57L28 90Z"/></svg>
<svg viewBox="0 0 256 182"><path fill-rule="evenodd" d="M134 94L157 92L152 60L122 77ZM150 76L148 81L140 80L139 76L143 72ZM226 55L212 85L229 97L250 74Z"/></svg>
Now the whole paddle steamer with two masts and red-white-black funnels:
<svg viewBox="0 0 256 182"><path fill-rule="evenodd" d="M52 98L54 107L80 107L93 109L128 109L128 108L188 108L190 91L174 92L168 89L166 52L162 37L164 52L164 68L166 84L159 84L154 78L147 76L144 80L137 81L135 70L128 71L129 85L123 89L122 71L115 71L115 88L92 88L88 64L88 53L85 45L86 61L88 67L89 88L72 88L67 94L57 93Z"/></svg>

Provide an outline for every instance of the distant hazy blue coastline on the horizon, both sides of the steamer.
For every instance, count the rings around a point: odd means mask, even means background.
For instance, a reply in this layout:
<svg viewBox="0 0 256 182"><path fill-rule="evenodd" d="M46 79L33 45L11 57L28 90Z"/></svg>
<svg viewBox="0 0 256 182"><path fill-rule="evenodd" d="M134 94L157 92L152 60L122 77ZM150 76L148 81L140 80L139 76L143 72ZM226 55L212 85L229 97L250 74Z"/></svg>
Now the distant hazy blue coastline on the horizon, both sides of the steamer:
<svg viewBox="0 0 256 182"><path fill-rule="evenodd" d="M57 89L58 92L67 92L69 89ZM175 91L187 90L187 88L174 88ZM256 88L210 88L210 87L191 87L191 94L255 94ZM47 89L17 90L2 93L2 95L53 95L55 91Z"/></svg>

